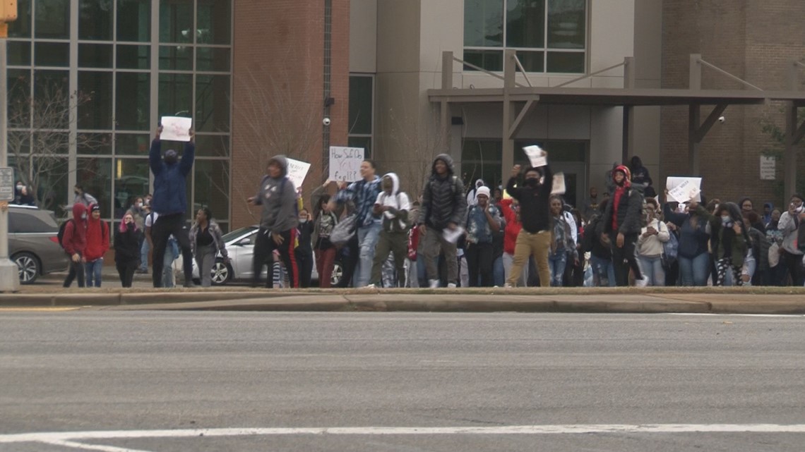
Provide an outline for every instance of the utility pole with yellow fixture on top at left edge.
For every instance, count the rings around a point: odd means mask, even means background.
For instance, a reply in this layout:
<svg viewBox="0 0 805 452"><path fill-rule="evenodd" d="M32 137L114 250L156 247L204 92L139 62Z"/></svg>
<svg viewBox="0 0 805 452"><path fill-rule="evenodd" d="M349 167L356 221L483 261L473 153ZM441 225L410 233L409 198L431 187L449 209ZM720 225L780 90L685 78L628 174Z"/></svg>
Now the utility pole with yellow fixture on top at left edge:
<svg viewBox="0 0 805 452"><path fill-rule="evenodd" d="M19 290L19 268L8 257L8 203L14 200L14 171L8 168L6 38L17 18L16 0L0 0L0 292Z"/></svg>

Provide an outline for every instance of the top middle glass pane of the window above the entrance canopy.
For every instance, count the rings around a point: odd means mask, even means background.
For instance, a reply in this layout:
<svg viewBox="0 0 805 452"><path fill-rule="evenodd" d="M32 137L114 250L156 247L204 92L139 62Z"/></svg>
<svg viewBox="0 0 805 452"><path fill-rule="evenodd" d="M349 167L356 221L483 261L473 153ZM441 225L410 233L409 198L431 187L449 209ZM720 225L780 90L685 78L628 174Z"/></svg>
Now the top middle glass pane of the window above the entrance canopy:
<svg viewBox="0 0 805 452"><path fill-rule="evenodd" d="M506 47L544 46L545 0L507 0Z"/></svg>

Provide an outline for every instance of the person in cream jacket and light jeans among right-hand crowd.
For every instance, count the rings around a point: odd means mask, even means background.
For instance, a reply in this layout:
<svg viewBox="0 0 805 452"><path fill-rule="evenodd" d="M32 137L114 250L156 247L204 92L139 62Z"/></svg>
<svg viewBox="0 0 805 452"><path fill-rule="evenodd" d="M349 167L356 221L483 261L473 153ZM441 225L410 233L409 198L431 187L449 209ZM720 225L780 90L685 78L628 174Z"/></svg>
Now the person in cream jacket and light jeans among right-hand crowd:
<svg viewBox="0 0 805 452"><path fill-rule="evenodd" d="M637 257L643 279L635 281L637 286L665 286L663 269L663 244L671 239L665 223L658 220L659 205L653 198L646 199L643 208L646 226L640 230Z"/></svg>

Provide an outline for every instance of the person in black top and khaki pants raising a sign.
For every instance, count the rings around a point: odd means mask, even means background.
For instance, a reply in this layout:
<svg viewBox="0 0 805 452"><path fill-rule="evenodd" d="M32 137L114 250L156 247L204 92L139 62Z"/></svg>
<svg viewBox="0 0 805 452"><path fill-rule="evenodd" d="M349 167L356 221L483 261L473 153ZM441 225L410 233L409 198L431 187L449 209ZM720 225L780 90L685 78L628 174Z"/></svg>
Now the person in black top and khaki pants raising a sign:
<svg viewBox="0 0 805 452"><path fill-rule="evenodd" d="M522 229L514 244L514 261L511 265L506 287L516 287L517 280L529 257L534 256L539 286L551 286L551 269L548 267L548 253L551 251L551 190L553 173L551 166L533 166L526 169L522 187L517 186L520 175L519 165L514 165L511 178L506 183L506 192L520 204ZM544 183L540 183L540 179Z"/></svg>

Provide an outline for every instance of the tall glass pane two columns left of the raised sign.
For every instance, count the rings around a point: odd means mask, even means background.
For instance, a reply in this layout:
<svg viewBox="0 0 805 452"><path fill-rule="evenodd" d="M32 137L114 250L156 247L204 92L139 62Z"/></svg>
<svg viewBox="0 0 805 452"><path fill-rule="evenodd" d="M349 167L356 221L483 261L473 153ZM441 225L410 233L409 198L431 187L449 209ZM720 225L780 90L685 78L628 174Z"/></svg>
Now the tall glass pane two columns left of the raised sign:
<svg viewBox="0 0 805 452"><path fill-rule="evenodd" d="M112 129L112 72L78 72L78 128Z"/></svg>

